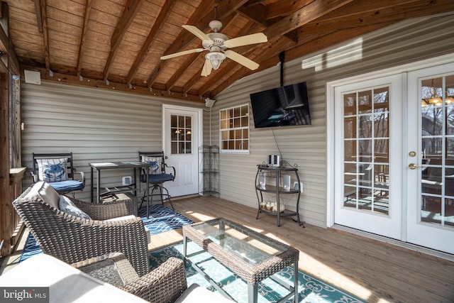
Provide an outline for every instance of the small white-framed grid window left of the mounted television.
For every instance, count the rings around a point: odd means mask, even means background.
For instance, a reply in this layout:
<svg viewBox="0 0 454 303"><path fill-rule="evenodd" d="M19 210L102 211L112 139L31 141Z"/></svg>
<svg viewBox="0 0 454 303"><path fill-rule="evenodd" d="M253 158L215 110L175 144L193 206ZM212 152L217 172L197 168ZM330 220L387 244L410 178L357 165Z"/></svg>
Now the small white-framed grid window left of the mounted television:
<svg viewBox="0 0 454 303"><path fill-rule="evenodd" d="M221 153L249 153L249 105L219 111Z"/></svg>

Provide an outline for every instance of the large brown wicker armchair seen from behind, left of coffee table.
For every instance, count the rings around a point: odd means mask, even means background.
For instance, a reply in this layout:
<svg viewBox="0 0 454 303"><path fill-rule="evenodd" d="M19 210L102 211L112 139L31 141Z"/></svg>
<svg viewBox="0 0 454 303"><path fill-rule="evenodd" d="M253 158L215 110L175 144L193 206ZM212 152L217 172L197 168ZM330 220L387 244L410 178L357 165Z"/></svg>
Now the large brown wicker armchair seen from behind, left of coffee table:
<svg viewBox="0 0 454 303"><path fill-rule="evenodd" d="M129 215L125 202L94 204L66 198L91 219L60 211L60 194L45 182L33 184L13 202L44 253L72 264L106 253L120 252L128 258L139 276L150 271L143 221L138 217L103 221Z"/></svg>

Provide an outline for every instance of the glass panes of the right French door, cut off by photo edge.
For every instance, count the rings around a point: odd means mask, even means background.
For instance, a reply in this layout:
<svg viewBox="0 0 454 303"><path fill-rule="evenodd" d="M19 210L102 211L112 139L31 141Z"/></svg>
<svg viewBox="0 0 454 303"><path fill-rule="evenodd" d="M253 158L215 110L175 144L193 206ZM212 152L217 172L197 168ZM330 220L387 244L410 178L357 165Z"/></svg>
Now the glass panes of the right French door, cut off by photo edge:
<svg viewBox="0 0 454 303"><path fill-rule="evenodd" d="M454 75L421 81L421 221L454 227Z"/></svg>

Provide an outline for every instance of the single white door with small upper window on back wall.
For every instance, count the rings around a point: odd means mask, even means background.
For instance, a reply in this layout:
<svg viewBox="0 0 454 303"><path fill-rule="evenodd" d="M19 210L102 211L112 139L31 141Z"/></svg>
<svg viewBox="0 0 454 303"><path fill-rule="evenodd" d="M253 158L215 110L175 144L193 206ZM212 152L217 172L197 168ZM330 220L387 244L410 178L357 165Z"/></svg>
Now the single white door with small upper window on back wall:
<svg viewBox="0 0 454 303"><path fill-rule="evenodd" d="M174 166L176 178L166 182L170 196L179 197L199 192L199 145L201 142L201 109L163 106L162 142L167 165Z"/></svg>

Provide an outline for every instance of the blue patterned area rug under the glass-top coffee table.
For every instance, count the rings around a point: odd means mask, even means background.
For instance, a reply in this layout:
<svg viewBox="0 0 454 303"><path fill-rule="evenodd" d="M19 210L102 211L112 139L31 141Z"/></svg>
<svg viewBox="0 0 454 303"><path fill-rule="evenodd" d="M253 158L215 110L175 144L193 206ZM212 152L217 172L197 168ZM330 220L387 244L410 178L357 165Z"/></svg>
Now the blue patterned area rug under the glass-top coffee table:
<svg viewBox="0 0 454 303"><path fill-rule="evenodd" d="M188 243L188 253L194 253L199 251L200 248L193 242ZM150 264L152 268L156 268L159 264L167 260L170 256L177 258L183 258L183 244L177 243L175 245L166 246L150 252ZM238 303L248 302L248 285L238 275L233 274L230 270L224 267L221 263L214 260L208 253L201 253L200 255L194 255L191 258L192 262L197 263L204 272L211 277L218 285L221 285L223 290L226 290L228 294ZM280 280L284 280L293 285L293 268L289 266L284 268L281 272L275 275L279 275ZM197 283L208 288L211 291L216 291L209 282L205 280L192 266L187 263L186 268L187 282L188 285ZM298 272L298 301L305 303L365 303L358 297L353 296L339 290L326 282L316 279L311 275L306 274L299 270ZM288 293L284 287L280 286L270 278L260 282L258 287L258 302L277 302L282 299L285 294ZM293 297L287 300L287 302L293 302Z"/></svg>

